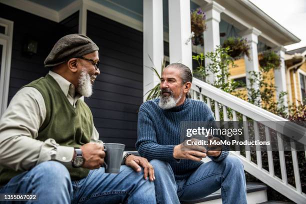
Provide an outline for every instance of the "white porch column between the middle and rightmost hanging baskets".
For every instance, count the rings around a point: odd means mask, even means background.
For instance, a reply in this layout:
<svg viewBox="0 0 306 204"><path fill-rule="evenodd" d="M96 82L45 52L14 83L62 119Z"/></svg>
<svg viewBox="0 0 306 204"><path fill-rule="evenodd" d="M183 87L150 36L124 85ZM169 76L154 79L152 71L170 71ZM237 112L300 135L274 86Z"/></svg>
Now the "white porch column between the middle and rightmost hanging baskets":
<svg viewBox="0 0 306 204"><path fill-rule="evenodd" d="M258 62L258 52L257 52L257 43L258 43L258 35L261 34L261 31L252 27L240 33L243 38L249 42L249 56L250 60L244 55L244 63L245 63L245 77L246 77L246 86L250 87L249 83L249 73L248 71L259 71L259 62ZM253 88L258 89L258 84L254 84Z"/></svg>

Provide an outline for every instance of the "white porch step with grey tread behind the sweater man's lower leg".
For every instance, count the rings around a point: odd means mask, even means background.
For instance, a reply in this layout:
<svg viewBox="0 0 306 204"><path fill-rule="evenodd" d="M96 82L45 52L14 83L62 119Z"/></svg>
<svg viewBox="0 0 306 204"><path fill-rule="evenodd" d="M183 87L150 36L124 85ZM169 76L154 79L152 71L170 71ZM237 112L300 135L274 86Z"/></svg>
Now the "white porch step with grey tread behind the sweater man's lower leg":
<svg viewBox="0 0 306 204"><path fill-rule="evenodd" d="M264 183L246 182L246 199L248 204L265 203L267 186ZM237 200L238 201L238 200ZM192 202L181 202L181 204L216 204L222 203L221 189L211 193L210 195Z"/></svg>

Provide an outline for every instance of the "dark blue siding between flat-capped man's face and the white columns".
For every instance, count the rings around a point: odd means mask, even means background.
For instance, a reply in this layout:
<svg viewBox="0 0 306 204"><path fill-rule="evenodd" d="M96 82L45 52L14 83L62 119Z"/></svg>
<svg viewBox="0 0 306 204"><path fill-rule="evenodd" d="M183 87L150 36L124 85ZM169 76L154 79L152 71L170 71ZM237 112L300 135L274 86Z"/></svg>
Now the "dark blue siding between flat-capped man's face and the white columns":
<svg viewBox="0 0 306 204"><path fill-rule="evenodd" d="M100 75L85 98L100 139L135 149L142 103L142 32L87 11L87 35L98 45Z"/></svg>

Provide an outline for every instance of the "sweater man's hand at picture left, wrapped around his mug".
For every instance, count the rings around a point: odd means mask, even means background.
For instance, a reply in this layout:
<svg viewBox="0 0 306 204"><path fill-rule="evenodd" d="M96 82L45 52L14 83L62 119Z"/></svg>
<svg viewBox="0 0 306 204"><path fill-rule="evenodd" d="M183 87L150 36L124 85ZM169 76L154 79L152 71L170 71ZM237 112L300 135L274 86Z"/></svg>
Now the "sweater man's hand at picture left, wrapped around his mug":
<svg viewBox="0 0 306 204"><path fill-rule="evenodd" d="M198 139L190 139L191 141L198 141ZM194 161L202 160L206 157L206 148L200 145L188 145L186 140L178 144L173 149L173 157L176 159L190 159Z"/></svg>

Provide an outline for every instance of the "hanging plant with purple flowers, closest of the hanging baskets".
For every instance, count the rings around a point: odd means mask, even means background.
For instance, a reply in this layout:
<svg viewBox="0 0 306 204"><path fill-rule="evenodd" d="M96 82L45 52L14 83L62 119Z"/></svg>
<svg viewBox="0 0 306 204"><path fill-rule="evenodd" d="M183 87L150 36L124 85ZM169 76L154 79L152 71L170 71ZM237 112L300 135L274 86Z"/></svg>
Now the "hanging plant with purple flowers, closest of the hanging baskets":
<svg viewBox="0 0 306 204"><path fill-rule="evenodd" d="M206 30L205 13L201 8L191 11L191 31L194 32L192 44L204 44L203 32Z"/></svg>

